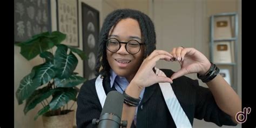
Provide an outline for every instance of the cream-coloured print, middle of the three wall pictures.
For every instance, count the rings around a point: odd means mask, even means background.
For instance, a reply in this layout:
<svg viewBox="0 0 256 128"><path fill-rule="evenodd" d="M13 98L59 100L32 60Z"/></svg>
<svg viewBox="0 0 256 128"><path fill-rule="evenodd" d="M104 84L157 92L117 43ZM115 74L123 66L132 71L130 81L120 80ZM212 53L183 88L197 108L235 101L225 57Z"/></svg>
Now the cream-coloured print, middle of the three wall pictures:
<svg viewBox="0 0 256 128"><path fill-rule="evenodd" d="M78 0L56 0L57 30L66 34L62 44L79 47Z"/></svg>

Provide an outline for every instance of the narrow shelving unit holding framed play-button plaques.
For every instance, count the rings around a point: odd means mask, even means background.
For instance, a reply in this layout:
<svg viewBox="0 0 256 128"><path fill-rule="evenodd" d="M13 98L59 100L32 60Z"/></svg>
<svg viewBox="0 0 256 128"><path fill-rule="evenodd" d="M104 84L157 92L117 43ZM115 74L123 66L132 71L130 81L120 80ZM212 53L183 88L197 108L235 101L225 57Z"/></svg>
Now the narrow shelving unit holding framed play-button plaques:
<svg viewBox="0 0 256 128"><path fill-rule="evenodd" d="M236 12L222 13L212 15L210 18L211 62L222 71L228 71L222 75L237 92L238 14Z"/></svg>

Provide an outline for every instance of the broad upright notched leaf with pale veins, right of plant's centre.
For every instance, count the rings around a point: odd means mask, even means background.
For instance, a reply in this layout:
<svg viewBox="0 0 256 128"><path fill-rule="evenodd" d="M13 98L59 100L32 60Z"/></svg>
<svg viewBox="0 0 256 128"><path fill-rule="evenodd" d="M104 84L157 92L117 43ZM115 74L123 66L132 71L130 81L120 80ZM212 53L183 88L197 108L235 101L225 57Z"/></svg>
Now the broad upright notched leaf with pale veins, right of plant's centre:
<svg viewBox="0 0 256 128"><path fill-rule="evenodd" d="M67 55L68 47L66 45L58 45L55 52L56 75L59 79L68 78L76 69L78 60L72 52Z"/></svg>

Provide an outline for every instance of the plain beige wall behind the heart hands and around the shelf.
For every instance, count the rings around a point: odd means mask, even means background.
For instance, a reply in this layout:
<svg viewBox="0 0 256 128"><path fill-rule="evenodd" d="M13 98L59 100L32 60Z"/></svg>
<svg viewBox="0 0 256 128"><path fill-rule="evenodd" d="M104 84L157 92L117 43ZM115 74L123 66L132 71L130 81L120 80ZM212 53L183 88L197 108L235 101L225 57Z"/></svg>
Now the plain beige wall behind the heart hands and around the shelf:
<svg viewBox="0 0 256 128"><path fill-rule="evenodd" d="M209 18L221 12L238 12L241 22L241 0L152 0L149 14L157 33L157 49L171 51L173 47L193 47L210 58ZM241 97L241 24L239 23L238 95ZM177 71L178 63L160 60L158 68ZM197 76L187 75L193 79ZM199 84L206 86L199 80ZM194 119L193 127L218 127L213 123ZM224 126L230 127L230 126ZM241 127L239 124L236 127Z"/></svg>

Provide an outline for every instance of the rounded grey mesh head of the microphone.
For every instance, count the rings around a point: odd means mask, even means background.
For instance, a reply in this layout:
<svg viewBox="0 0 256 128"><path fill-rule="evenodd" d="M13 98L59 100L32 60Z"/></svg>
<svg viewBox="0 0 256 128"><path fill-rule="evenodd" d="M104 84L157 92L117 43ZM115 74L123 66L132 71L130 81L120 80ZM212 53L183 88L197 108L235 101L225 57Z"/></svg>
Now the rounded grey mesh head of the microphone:
<svg viewBox="0 0 256 128"><path fill-rule="evenodd" d="M119 118L122 117L124 96L118 91L110 91L107 93L106 100L102 109L102 116L104 113L116 114Z"/></svg>

